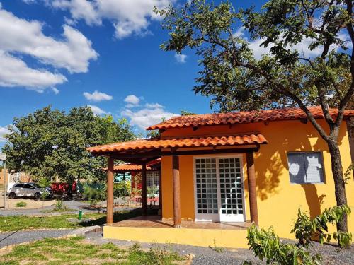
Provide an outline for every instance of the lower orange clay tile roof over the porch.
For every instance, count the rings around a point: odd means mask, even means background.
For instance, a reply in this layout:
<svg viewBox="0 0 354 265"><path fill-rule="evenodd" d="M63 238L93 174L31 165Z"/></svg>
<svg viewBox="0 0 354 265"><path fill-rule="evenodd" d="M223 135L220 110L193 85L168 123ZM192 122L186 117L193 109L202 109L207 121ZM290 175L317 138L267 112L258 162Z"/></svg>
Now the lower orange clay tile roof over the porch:
<svg viewBox="0 0 354 265"><path fill-rule="evenodd" d="M160 148L234 146L268 143L262 134L244 134L237 136L200 136L179 139L141 139L123 143L112 143L105 146L87 148L91 153L120 152L130 150L152 150Z"/></svg>

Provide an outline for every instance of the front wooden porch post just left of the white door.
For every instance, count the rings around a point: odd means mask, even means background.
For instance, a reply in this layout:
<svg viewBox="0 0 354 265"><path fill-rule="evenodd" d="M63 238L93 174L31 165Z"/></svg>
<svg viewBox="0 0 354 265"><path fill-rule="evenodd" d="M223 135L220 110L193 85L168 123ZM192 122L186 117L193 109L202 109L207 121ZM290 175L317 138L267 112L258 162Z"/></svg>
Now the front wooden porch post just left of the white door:
<svg viewBox="0 0 354 265"><path fill-rule="evenodd" d="M173 226L181 228L181 191L179 179L179 158L177 155L172 157L173 168Z"/></svg>

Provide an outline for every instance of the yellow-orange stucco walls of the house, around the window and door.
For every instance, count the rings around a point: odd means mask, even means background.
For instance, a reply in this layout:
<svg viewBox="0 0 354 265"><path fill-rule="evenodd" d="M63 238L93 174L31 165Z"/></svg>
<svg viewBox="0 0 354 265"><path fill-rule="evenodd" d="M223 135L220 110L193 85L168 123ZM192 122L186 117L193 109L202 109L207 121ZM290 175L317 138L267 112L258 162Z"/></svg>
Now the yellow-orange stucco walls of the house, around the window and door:
<svg viewBox="0 0 354 265"><path fill-rule="evenodd" d="M324 120L319 123L326 128ZM253 124L235 124L232 126L205 126L193 131L192 128L168 129L162 136L191 136L239 134L260 132L269 141L262 145L255 156L256 187L258 199L259 225L268 228L275 227L281 237L292 238L292 224L297 216L297 209L302 208L311 216L316 216L324 208L334 206L334 184L331 174L331 158L326 142L321 139L312 124L299 121L263 122ZM350 165L350 148L346 122L341 126L339 144L341 149L343 169ZM322 151L324 158L325 184L290 184L287 166L289 151ZM200 156L200 155L198 155ZM246 158L244 157L244 163ZM172 160L162 158L162 197L164 218L173 218L172 195ZM193 184L193 156L180 157L181 176L181 216L194 219L195 199ZM246 203L246 219L249 220L249 199L247 190L246 165L244 165L244 187ZM354 181L353 176L346 185L348 205L354 212ZM348 219L349 230L354 231L354 213Z"/></svg>

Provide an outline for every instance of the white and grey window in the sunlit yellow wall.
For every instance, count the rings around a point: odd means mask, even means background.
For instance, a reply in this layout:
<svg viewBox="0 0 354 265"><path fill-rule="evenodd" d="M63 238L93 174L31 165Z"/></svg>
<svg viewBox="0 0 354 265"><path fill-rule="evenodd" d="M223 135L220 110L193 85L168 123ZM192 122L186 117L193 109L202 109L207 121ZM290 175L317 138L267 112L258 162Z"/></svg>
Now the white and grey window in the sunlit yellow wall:
<svg viewBox="0 0 354 265"><path fill-rule="evenodd" d="M324 166L320 152L287 153L290 182L324 183Z"/></svg>

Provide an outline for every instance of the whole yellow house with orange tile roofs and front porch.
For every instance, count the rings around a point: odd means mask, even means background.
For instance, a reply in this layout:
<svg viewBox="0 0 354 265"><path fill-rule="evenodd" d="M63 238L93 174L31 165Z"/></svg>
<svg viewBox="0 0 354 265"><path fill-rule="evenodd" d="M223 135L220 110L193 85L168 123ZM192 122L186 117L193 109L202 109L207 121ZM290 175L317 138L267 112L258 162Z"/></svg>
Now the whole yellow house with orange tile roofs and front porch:
<svg viewBox="0 0 354 265"><path fill-rule="evenodd" d="M321 108L309 110L327 128ZM338 138L344 170L352 162L350 116ZM108 157L106 238L247 247L251 222L294 238L298 208L314 217L336 205L328 147L300 109L181 116L147 129L158 129L159 138L89 148ZM146 164L156 158L162 215L147 216ZM142 217L113 223L114 160L142 165ZM354 210L353 177L346 194ZM348 228L354 231L353 216Z"/></svg>

